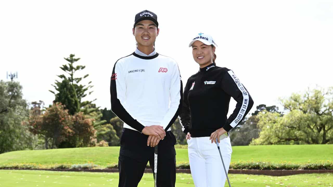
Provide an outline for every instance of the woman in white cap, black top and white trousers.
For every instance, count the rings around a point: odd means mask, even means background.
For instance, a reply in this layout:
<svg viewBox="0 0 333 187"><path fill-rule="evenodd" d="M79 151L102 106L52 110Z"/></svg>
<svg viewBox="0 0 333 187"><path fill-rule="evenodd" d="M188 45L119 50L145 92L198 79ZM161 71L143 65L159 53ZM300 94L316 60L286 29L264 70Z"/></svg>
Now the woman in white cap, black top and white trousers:
<svg viewBox="0 0 333 187"><path fill-rule="evenodd" d="M220 140L220 136L239 124L253 100L231 70L216 66L217 45L210 35L199 33L189 47L200 70L187 80L179 122L186 133L191 174L196 187L224 186L226 176L216 138L228 170L232 153L230 138ZM237 104L227 118L231 97Z"/></svg>

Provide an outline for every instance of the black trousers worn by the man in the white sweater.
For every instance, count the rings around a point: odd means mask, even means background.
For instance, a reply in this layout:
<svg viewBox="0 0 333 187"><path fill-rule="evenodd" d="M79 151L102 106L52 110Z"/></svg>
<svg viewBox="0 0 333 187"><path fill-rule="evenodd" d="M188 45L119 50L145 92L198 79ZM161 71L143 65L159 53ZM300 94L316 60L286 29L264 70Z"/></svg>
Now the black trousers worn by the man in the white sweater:
<svg viewBox="0 0 333 187"><path fill-rule="evenodd" d="M124 128L120 140L119 187L137 187L149 162L154 171L154 147L147 146L148 136ZM158 144L157 186L174 187L176 182L176 139L171 131ZM153 178L152 174L152 178Z"/></svg>

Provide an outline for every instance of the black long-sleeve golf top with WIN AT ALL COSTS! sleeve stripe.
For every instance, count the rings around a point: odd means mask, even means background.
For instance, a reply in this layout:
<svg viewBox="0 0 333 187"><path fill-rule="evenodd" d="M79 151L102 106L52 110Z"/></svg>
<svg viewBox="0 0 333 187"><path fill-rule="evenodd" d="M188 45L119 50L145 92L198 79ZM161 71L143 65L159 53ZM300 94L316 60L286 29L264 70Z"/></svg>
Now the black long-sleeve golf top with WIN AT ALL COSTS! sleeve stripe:
<svg viewBox="0 0 333 187"><path fill-rule="evenodd" d="M237 104L227 118L230 97ZM237 126L252 106L250 94L235 74L213 63L187 80L179 122L191 137L210 136L221 127L229 131Z"/></svg>

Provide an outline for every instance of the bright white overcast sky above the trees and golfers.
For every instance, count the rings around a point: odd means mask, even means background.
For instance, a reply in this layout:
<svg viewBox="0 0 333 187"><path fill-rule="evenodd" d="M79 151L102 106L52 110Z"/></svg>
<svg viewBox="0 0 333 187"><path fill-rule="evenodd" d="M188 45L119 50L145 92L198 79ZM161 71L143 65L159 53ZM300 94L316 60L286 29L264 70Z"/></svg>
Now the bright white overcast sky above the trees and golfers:
<svg viewBox="0 0 333 187"><path fill-rule="evenodd" d="M175 59L183 84L198 71L188 43L210 33L216 63L234 71L256 105L307 87L333 86L333 1L0 1L0 80L18 71L24 98L51 104L51 84L71 53L110 109L114 63L135 50L135 14L158 15L157 52ZM230 111L235 102L230 103ZM282 108L280 108L282 109Z"/></svg>

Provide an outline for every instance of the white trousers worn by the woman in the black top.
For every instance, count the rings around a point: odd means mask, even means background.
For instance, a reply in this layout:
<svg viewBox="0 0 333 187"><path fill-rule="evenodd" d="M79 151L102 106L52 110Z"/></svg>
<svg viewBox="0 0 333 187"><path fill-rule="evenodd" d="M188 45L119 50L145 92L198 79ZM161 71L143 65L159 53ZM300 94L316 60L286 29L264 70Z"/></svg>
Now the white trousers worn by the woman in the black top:
<svg viewBox="0 0 333 187"><path fill-rule="evenodd" d="M217 145L209 137L196 137L187 140L188 158L195 187L224 187L226 175ZM229 170L231 160L230 138L220 140L220 150Z"/></svg>

